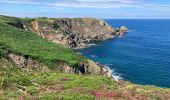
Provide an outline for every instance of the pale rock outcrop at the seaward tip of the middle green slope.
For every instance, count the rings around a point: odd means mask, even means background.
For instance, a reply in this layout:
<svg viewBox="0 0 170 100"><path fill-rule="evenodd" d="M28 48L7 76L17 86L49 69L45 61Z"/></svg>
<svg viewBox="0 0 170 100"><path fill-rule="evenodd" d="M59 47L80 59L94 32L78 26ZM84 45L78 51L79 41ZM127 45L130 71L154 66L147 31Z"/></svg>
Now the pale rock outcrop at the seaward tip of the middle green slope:
<svg viewBox="0 0 170 100"><path fill-rule="evenodd" d="M75 73L75 74L85 74L85 75L100 75L112 77L112 73L109 69L101 64L97 64L91 60L88 60L87 63L81 63L76 67L69 67L67 65L61 65L56 68L64 73Z"/></svg>

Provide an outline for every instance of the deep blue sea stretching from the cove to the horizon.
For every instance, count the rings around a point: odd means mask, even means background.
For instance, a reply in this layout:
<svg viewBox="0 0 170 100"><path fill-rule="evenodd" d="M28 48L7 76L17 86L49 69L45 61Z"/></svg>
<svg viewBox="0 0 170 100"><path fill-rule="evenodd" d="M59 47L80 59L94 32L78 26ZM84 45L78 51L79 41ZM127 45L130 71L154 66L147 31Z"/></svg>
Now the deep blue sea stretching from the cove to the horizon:
<svg viewBox="0 0 170 100"><path fill-rule="evenodd" d="M117 78L170 88L170 20L107 19L113 27L130 29L123 37L78 50L109 66Z"/></svg>

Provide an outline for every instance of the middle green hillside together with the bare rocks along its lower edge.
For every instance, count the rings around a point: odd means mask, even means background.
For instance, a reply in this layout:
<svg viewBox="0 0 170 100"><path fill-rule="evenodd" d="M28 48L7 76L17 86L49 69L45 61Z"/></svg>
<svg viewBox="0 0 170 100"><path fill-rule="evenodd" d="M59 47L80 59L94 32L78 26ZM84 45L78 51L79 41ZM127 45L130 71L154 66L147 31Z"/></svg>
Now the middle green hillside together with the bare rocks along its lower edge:
<svg viewBox="0 0 170 100"><path fill-rule="evenodd" d="M1 56L28 69L48 67L57 71L103 75L102 66L38 35L0 22Z"/></svg>

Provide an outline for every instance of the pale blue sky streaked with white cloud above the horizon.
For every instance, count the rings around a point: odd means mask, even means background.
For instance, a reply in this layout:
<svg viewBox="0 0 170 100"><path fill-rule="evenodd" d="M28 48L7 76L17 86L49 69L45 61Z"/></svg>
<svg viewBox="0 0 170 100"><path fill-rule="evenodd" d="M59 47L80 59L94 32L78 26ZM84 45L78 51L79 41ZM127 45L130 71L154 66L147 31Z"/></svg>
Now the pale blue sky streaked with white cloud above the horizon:
<svg viewBox="0 0 170 100"><path fill-rule="evenodd" d="M170 0L0 0L0 15L170 19Z"/></svg>

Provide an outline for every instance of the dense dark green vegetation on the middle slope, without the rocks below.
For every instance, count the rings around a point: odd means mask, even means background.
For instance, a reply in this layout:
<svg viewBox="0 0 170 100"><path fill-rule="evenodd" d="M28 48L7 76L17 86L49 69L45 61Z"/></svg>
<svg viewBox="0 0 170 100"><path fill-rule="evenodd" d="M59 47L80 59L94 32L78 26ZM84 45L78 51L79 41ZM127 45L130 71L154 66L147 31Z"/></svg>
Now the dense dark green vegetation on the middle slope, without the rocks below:
<svg viewBox="0 0 170 100"><path fill-rule="evenodd" d="M30 56L49 67L66 63L75 66L86 59L73 50L64 48L41 37L0 22L0 53L1 56L13 52Z"/></svg>

